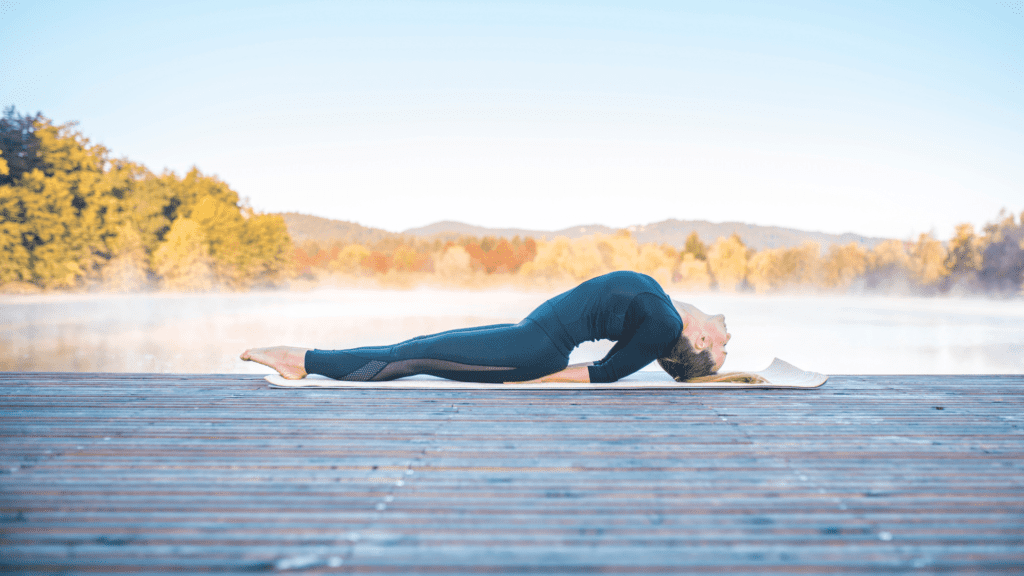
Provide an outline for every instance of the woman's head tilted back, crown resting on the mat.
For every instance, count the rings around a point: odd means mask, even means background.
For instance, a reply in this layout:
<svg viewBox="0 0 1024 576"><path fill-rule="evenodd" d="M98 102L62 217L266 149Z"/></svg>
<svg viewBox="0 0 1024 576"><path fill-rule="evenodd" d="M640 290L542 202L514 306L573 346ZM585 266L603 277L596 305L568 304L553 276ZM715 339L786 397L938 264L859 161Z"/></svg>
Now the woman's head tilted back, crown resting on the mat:
<svg viewBox="0 0 1024 576"><path fill-rule="evenodd" d="M725 344L732 337L726 330L725 317L710 316L696 306L673 300L683 319L683 332L665 358L662 368L679 381L718 372L725 363Z"/></svg>

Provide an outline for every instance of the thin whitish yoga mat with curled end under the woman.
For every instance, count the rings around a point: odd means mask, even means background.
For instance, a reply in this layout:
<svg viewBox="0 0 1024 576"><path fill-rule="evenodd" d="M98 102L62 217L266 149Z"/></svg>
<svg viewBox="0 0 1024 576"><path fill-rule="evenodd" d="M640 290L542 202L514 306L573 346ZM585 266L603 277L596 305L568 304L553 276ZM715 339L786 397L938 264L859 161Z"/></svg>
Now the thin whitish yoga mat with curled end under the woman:
<svg viewBox="0 0 1024 576"><path fill-rule="evenodd" d="M279 374L266 376L270 387L275 388L377 388L377 389L470 389L470 390L551 390L551 389L636 389L636 388L816 388L825 383L828 376L817 372L801 370L788 362L775 359L764 370L752 372L764 378L765 382L677 382L665 372L636 372L627 378L610 383L581 382L510 382L507 384L485 384L479 382L457 382L431 376L413 376L387 382L349 382L311 375L301 380L287 380Z"/></svg>

